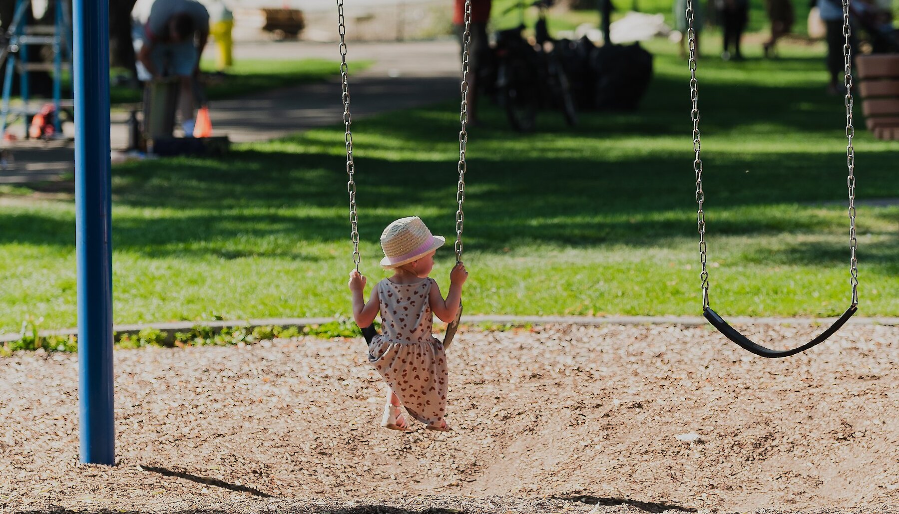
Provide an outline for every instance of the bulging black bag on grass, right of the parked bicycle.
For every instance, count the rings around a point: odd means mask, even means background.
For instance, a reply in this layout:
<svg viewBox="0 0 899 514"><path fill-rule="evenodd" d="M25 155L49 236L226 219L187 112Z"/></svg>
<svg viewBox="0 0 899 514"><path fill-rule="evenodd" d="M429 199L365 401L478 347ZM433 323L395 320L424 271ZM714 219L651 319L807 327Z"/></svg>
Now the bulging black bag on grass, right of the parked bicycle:
<svg viewBox="0 0 899 514"><path fill-rule="evenodd" d="M653 78L653 55L639 43L592 49L589 66L594 76L592 109L635 110Z"/></svg>

